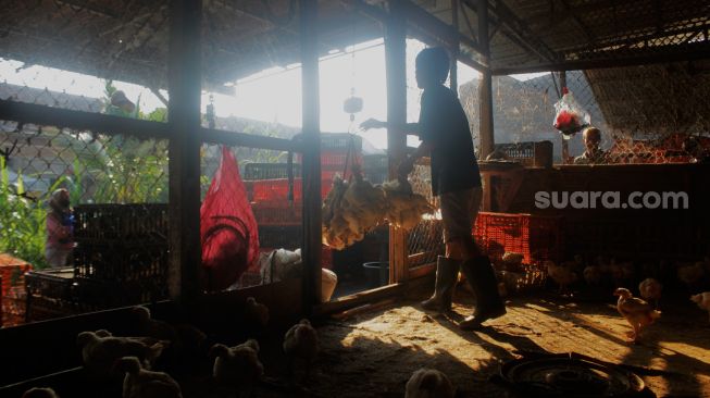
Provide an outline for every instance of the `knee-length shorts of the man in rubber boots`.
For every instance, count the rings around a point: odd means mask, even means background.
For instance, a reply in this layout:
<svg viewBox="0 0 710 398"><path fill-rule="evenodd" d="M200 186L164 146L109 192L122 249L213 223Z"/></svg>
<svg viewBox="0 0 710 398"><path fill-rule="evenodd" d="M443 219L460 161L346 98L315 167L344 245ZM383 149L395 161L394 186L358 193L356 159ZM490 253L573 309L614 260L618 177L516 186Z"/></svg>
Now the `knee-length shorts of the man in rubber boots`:
<svg viewBox="0 0 710 398"><path fill-rule="evenodd" d="M439 195L444 242L458 238L471 239L482 199L481 187Z"/></svg>

